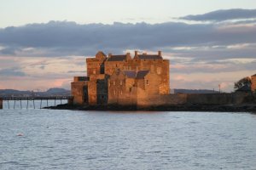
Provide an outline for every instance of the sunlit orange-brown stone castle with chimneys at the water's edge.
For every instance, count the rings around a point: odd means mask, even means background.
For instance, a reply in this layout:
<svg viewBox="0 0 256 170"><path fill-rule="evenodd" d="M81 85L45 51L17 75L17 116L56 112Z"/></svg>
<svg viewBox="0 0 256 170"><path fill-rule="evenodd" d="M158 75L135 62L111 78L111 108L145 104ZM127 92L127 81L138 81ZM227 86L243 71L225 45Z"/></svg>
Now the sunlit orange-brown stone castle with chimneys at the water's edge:
<svg viewBox="0 0 256 170"><path fill-rule="evenodd" d="M104 54L86 59L87 77L74 77L73 104L150 105L170 93L169 60L158 54Z"/></svg>

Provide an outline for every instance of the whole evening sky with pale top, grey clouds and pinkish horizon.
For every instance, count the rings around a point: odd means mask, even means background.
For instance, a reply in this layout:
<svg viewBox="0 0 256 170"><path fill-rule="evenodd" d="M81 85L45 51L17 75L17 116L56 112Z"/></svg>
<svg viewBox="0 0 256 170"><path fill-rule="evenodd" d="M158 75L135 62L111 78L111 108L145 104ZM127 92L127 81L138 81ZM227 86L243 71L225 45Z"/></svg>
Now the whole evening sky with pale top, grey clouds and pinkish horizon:
<svg viewBox="0 0 256 170"><path fill-rule="evenodd" d="M85 58L162 51L171 88L256 74L254 0L0 0L0 89L70 88Z"/></svg>

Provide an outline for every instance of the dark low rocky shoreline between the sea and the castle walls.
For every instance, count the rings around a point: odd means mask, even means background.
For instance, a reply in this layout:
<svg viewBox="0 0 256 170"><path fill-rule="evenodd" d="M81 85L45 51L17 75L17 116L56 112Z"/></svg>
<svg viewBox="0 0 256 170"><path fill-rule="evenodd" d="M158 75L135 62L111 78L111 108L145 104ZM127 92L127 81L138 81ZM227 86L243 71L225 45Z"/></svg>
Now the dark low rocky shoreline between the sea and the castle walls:
<svg viewBox="0 0 256 170"><path fill-rule="evenodd" d="M137 107L134 105L56 105L45 107L52 110L73 111L216 111L216 112L255 112L256 104L242 105L160 105Z"/></svg>

